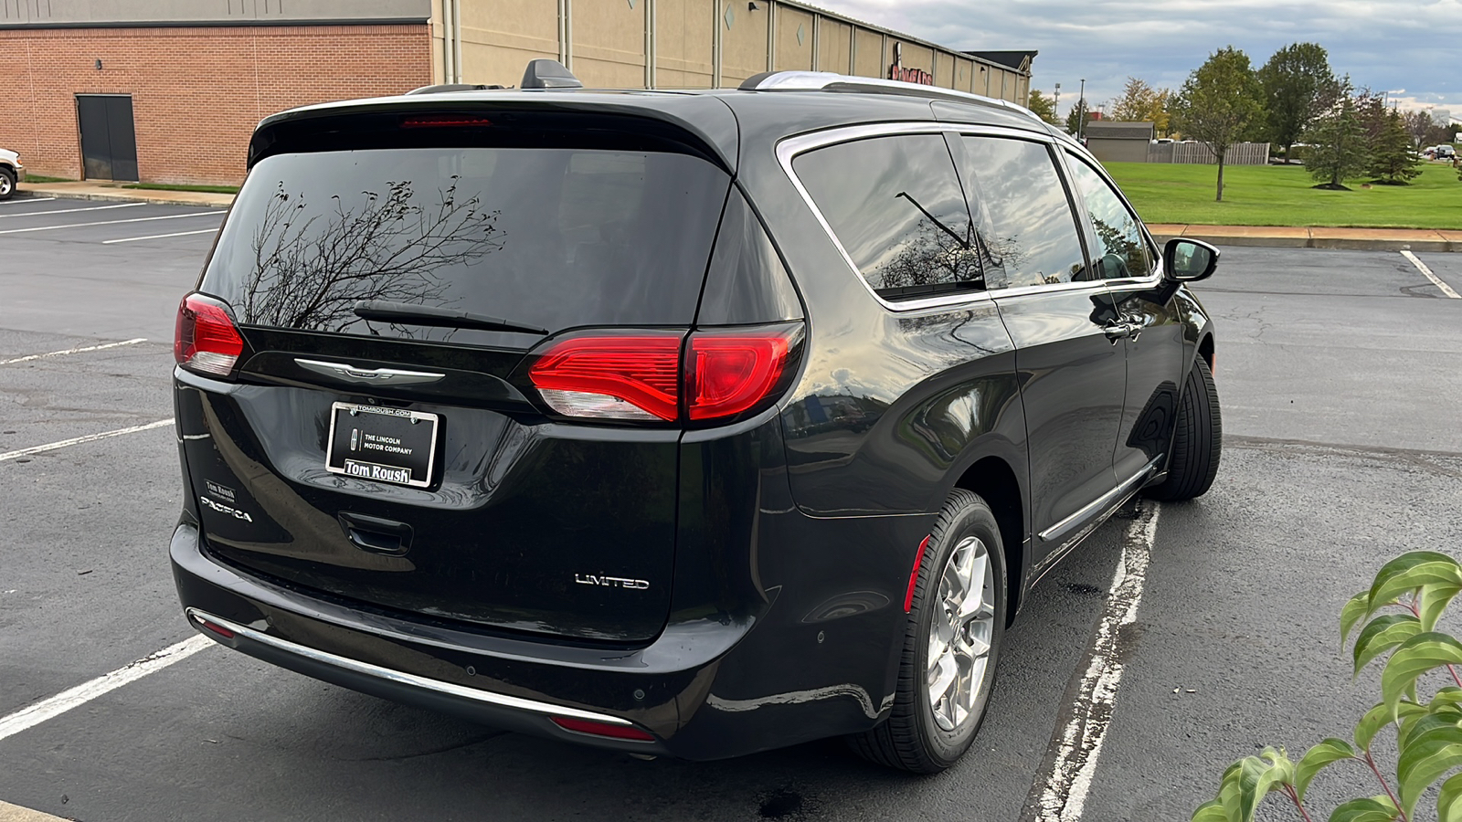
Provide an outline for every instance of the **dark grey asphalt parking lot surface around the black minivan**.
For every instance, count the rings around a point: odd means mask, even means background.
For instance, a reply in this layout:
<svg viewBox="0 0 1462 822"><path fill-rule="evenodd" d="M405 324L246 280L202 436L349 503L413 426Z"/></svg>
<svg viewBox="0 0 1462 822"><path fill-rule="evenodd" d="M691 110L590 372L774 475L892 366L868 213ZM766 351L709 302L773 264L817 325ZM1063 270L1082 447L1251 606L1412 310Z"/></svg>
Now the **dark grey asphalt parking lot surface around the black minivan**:
<svg viewBox="0 0 1462 822"><path fill-rule="evenodd" d="M1218 322L1224 464L1193 503L1143 503L1156 528L1110 648L1110 717L1080 685L1136 512L1041 582L975 749L931 778L835 740L643 762L213 645L6 730L193 636L167 563L181 496L168 348L221 212L115 205L0 205L0 800L63 818L1186 819L1232 759L1344 736L1374 693L1349 686L1341 604L1385 559L1462 538L1462 300L1393 252L1227 249L1199 288ZM1462 254L1418 259L1462 291ZM1089 791L1042 810L1073 721L1105 730L1099 758L1076 752Z"/></svg>

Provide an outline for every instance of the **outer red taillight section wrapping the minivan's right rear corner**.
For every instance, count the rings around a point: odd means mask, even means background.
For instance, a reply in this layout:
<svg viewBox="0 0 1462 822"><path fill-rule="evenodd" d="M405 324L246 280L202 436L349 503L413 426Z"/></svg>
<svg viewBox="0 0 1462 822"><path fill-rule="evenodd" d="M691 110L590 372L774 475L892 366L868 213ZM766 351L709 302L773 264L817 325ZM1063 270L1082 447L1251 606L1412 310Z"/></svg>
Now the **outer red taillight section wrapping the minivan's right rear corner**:
<svg viewBox="0 0 1462 822"><path fill-rule="evenodd" d="M690 335L686 410L692 420L734 417L770 393L787 370L792 335L775 331L699 331Z"/></svg>

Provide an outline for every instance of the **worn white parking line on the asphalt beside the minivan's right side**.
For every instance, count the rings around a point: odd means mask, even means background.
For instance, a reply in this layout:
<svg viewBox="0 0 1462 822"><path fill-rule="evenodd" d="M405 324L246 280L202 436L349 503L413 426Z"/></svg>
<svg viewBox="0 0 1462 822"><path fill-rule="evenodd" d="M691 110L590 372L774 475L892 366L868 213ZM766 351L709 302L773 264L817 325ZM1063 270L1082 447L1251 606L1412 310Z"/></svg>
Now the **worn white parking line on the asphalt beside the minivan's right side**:
<svg viewBox="0 0 1462 822"><path fill-rule="evenodd" d="M1076 822L1082 818L1101 743L1111 725L1121 683L1121 629L1137 619L1142 587L1148 579L1148 560L1158 534L1158 503L1140 500L1137 516L1121 540L1121 562L1111 578L1107 608L1096 626L1096 639L1088 651L1091 664L1082 674L1069 721L1061 728L1060 747L1045 785L1035 803L1039 822ZM1032 791L1034 793L1034 791ZM1025 816L1022 816L1025 818Z"/></svg>

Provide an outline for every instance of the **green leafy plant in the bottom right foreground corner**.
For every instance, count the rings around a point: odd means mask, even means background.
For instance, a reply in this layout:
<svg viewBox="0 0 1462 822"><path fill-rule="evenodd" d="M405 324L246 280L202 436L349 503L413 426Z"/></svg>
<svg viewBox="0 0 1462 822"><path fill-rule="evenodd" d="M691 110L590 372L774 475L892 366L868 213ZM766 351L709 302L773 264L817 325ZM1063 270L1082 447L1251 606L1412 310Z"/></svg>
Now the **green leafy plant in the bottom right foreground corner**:
<svg viewBox="0 0 1462 822"><path fill-rule="evenodd" d="M1193 822L1253 822L1259 804L1278 793L1306 822L1310 783L1336 762L1360 765L1382 793L1336 806L1330 822L1414 822L1417 800L1452 769L1462 766L1462 642L1437 630L1437 620L1462 592L1462 565L1436 551L1411 551L1386 563L1370 588L1341 608L1341 646L1351 646L1354 677L1380 665L1380 702L1355 723L1351 739L1330 737L1298 762L1282 747L1266 747L1224 771L1218 796L1193 812ZM1363 625L1364 623L1364 625ZM1360 630L1355 632L1357 626ZM1423 677L1443 685L1423 699ZM1383 769L1373 744L1386 728L1396 734L1395 768ZM1370 791L1367 791L1370 793ZM1462 822L1462 774L1442 781L1437 821Z"/></svg>

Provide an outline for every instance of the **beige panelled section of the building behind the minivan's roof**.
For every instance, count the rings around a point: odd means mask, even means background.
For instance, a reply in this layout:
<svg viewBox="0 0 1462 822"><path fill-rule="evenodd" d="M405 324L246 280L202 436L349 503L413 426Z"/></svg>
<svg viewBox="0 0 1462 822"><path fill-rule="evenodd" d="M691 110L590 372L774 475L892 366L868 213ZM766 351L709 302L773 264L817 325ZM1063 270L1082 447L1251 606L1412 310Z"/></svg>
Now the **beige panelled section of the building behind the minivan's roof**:
<svg viewBox="0 0 1462 822"><path fill-rule="evenodd" d="M1031 57L981 57L789 0L433 0L436 82L516 85L550 57L594 88L722 88L769 70L896 78L1023 104Z"/></svg>

